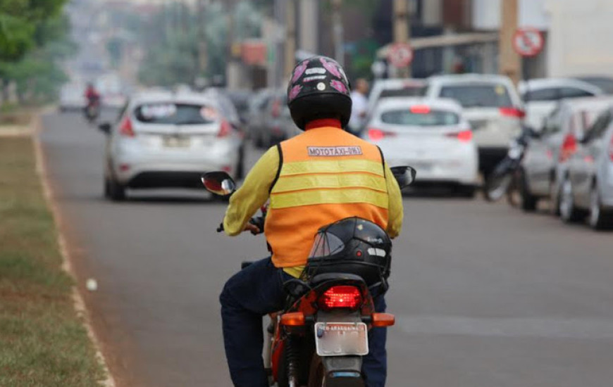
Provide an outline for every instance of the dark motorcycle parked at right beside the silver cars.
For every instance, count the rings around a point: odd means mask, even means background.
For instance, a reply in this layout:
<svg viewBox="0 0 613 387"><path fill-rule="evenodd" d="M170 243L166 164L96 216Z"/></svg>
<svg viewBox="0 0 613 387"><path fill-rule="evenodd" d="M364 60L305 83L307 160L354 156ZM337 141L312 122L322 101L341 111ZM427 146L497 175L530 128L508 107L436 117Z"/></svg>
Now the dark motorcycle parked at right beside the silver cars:
<svg viewBox="0 0 613 387"><path fill-rule="evenodd" d="M519 137L511 142L507 156L496 165L488 181L485 182L487 201L499 201L506 194L509 204L517 205L516 194L521 188L519 169L531 137L533 130L524 127Z"/></svg>

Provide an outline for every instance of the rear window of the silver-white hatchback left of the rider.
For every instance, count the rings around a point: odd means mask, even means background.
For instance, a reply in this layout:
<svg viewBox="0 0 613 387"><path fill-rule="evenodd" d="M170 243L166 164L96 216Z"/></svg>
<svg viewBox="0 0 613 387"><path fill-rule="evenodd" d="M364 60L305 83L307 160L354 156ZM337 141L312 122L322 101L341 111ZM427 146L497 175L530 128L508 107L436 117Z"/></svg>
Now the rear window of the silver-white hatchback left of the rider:
<svg viewBox="0 0 613 387"><path fill-rule="evenodd" d="M215 122L218 110L188 103L145 103L134 111L139 122L159 125L203 125Z"/></svg>

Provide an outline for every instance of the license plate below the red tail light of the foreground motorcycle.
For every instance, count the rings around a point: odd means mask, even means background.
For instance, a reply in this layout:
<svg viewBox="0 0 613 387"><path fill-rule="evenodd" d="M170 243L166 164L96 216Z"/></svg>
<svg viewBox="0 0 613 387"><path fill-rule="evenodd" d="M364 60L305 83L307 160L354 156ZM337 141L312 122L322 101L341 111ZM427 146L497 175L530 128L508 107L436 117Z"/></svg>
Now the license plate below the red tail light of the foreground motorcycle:
<svg viewBox="0 0 613 387"><path fill-rule="evenodd" d="M363 322L316 322L315 348L319 356L364 356L369 336Z"/></svg>

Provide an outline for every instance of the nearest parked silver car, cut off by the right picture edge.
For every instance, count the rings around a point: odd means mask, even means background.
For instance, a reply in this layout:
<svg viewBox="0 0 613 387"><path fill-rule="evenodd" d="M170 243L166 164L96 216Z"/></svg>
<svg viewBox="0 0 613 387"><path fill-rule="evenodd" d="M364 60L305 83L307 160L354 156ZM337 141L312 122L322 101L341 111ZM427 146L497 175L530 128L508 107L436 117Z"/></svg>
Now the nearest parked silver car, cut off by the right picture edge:
<svg viewBox="0 0 613 387"><path fill-rule="evenodd" d="M561 186L562 220L573 222L588 215L594 229L613 227L613 107L576 144Z"/></svg>

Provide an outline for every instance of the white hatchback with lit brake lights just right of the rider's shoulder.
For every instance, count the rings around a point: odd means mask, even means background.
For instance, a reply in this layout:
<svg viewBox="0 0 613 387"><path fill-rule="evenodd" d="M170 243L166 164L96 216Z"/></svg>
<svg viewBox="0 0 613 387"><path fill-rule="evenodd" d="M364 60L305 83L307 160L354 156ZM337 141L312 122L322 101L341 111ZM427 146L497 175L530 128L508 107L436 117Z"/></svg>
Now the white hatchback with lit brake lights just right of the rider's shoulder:
<svg viewBox="0 0 613 387"><path fill-rule="evenodd" d="M380 147L390 167L414 167L417 184L453 184L459 194L474 195L478 182L477 147L457 102L382 99L363 136Z"/></svg>

